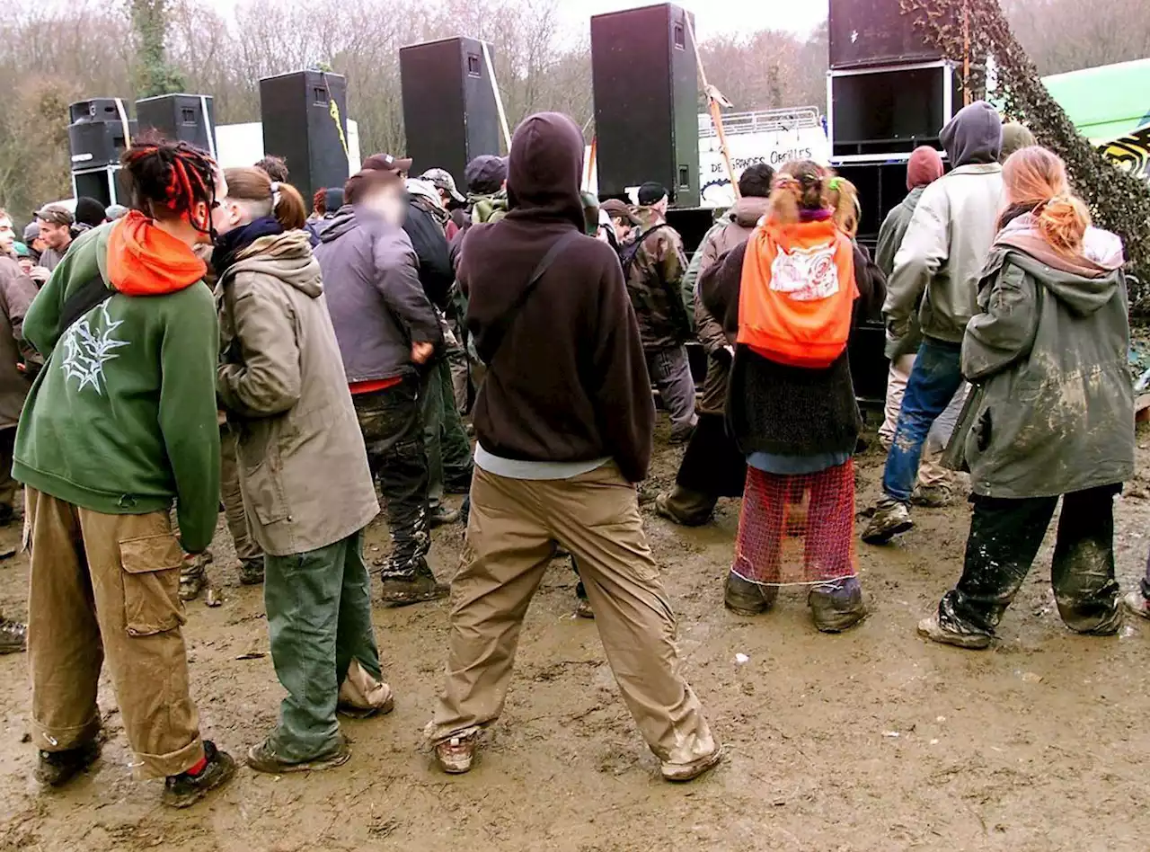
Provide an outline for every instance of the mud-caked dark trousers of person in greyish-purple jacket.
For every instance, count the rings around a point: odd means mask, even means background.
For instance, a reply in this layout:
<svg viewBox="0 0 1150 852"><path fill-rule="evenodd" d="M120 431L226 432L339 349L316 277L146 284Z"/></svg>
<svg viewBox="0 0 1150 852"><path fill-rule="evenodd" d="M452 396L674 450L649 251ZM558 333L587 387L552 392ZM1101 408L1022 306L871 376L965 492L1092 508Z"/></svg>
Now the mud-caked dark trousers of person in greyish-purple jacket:
<svg viewBox="0 0 1150 852"><path fill-rule="evenodd" d="M368 466L379 483L391 531L386 576L413 577L417 571L430 571L428 458L423 452L419 389L419 379L406 378L394 387L352 397Z"/></svg>

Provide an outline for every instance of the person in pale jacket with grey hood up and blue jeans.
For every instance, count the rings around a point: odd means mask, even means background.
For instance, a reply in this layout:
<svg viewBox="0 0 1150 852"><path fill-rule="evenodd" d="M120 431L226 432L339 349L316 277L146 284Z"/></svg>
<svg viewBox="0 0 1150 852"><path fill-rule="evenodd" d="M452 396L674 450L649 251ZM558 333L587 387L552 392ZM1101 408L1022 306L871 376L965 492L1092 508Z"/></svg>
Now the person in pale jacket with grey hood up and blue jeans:
<svg viewBox="0 0 1150 852"><path fill-rule="evenodd" d="M1002 120L986 101L964 107L942 130L953 168L927 186L895 252L882 312L891 351L922 343L906 383L882 478L883 496L862 531L885 544L914 527L910 502L930 427L963 386L960 351L977 312L976 287L995 238L1002 199Z"/></svg>

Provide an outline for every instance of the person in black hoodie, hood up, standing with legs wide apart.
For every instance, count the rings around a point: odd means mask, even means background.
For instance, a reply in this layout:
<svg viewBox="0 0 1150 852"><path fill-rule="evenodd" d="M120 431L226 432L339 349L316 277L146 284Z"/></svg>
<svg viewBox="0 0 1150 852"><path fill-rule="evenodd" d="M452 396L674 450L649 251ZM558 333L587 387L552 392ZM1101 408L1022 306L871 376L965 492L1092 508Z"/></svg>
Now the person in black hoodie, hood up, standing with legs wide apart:
<svg viewBox="0 0 1150 852"><path fill-rule="evenodd" d="M509 213L467 233L459 276L488 375L446 682L427 737L443 770L470 769L558 544L578 560L607 660L664 777L689 781L722 749L678 671L643 531L634 483L647 473L654 407L618 255L583 233L582 166L570 118L528 117L511 145Z"/></svg>

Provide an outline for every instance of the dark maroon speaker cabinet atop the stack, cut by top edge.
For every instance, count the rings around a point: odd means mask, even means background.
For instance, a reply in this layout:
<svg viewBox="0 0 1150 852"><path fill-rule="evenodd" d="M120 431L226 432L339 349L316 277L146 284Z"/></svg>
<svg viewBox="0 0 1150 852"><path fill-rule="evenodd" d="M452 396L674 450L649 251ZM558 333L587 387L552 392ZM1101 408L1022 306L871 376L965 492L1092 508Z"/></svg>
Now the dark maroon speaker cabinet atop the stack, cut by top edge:
<svg viewBox="0 0 1150 852"><path fill-rule="evenodd" d="M958 6L946 7L944 24L957 21ZM943 59L914 18L903 14L902 0L830 0L829 34L831 68Z"/></svg>

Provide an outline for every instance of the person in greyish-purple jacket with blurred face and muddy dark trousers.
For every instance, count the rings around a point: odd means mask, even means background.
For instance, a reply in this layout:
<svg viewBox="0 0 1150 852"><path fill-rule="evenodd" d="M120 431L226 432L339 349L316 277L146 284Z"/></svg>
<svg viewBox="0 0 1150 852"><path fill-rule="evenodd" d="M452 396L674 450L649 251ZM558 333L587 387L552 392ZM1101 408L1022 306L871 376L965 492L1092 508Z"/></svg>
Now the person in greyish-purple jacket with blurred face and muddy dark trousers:
<svg viewBox="0 0 1150 852"><path fill-rule="evenodd" d="M447 594L427 562L428 467L420 408L421 368L443 341L420 285L415 250L400 228L407 199L399 171L365 169L344 187L347 204L315 250L344 371L378 478L391 530L383 599L416 604Z"/></svg>

